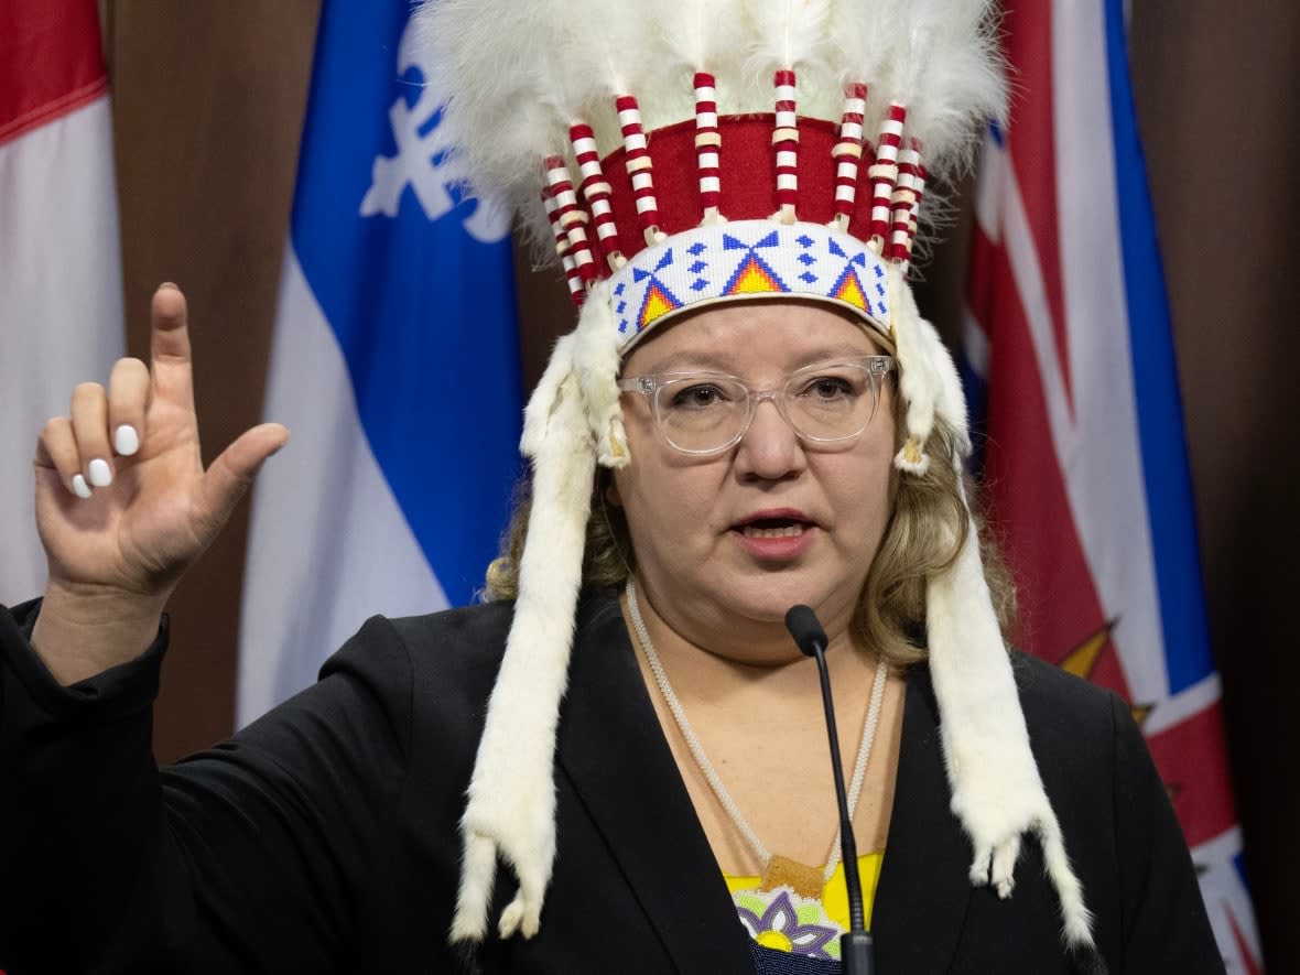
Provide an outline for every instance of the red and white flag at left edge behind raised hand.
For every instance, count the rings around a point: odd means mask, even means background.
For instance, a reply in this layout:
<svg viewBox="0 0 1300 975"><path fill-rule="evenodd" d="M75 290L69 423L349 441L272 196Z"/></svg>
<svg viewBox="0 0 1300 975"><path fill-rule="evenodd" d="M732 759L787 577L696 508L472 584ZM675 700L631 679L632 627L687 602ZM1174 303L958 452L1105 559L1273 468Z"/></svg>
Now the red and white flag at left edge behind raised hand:
<svg viewBox="0 0 1300 975"><path fill-rule="evenodd" d="M108 75L95 0L0 12L0 602L44 589L32 520L44 421L122 355Z"/></svg>

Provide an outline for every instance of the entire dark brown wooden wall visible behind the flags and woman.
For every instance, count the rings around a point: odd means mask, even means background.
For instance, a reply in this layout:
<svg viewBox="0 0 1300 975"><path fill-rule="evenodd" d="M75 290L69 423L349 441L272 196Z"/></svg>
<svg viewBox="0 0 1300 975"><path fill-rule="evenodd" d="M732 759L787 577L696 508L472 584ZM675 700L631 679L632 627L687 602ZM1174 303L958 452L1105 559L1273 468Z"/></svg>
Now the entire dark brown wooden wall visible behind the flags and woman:
<svg viewBox="0 0 1300 975"><path fill-rule="evenodd" d="M1031 0L1026 0L1031 1ZM317 0L101 0L114 91L129 344L146 354L159 281L192 309L208 455L257 421ZM1300 4L1134 4L1132 62L1183 384L1210 628L1266 957L1300 971L1300 688L1288 619L1300 551ZM954 234L954 242L961 234ZM952 333L959 243L930 272ZM1205 287L1216 282L1212 291ZM529 380L569 312L520 273ZM273 462L274 463L274 462ZM161 758L231 728L247 506L172 606Z"/></svg>

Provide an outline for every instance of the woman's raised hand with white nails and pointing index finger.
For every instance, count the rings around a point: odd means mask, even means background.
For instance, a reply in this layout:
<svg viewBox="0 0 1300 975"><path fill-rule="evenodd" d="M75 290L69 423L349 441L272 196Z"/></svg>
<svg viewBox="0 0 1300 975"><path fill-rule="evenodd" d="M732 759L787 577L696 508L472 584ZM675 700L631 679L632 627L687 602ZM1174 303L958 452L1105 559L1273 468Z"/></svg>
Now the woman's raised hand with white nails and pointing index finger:
<svg viewBox="0 0 1300 975"><path fill-rule="evenodd" d="M49 563L32 644L73 682L139 655L185 569L212 543L280 424L244 432L204 471L185 296L152 302L152 367L121 359L78 386L36 445L36 526Z"/></svg>

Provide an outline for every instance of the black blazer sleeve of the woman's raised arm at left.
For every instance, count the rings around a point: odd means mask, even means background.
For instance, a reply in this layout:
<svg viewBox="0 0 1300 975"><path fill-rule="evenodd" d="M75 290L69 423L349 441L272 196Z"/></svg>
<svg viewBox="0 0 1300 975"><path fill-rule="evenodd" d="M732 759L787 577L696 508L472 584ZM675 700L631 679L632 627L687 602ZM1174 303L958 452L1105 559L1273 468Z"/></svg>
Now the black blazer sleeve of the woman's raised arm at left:
<svg viewBox="0 0 1300 975"><path fill-rule="evenodd" d="M62 688L0 607L0 970L359 970L367 883L404 785L411 660L373 619L321 681L159 770L166 633Z"/></svg>

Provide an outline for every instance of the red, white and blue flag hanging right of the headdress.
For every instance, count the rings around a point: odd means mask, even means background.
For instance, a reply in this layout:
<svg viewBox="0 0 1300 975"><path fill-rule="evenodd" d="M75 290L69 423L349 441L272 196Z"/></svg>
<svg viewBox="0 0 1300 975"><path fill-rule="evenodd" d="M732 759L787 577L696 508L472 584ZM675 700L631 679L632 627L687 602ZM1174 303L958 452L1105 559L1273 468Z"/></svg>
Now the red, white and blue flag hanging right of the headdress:
<svg viewBox="0 0 1300 975"><path fill-rule="evenodd" d="M1123 0L1005 10L1015 98L984 152L966 355L1018 638L1132 705L1227 970L1260 972Z"/></svg>

